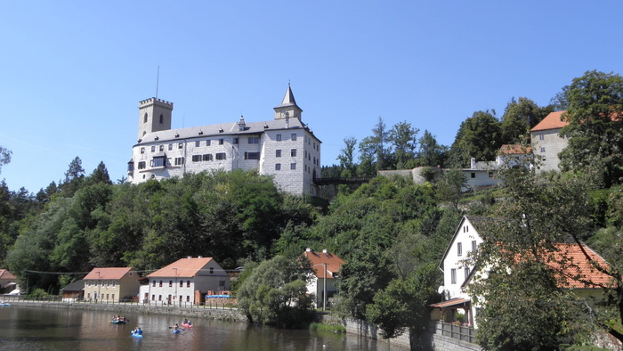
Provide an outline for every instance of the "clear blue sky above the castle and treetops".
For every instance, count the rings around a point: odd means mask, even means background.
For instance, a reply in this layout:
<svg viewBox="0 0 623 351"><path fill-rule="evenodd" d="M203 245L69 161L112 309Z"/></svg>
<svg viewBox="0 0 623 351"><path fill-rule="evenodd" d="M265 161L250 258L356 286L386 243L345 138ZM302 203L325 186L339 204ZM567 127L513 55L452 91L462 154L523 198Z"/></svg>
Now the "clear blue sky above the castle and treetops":
<svg viewBox="0 0 623 351"><path fill-rule="evenodd" d="M272 118L288 81L336 163L377 119L440 143L476 110L546 105L585 71L623 73L617 1L106 1L3 4L0 179L37 192L80 157L125 175L138 102L173 127Z"/></svg>

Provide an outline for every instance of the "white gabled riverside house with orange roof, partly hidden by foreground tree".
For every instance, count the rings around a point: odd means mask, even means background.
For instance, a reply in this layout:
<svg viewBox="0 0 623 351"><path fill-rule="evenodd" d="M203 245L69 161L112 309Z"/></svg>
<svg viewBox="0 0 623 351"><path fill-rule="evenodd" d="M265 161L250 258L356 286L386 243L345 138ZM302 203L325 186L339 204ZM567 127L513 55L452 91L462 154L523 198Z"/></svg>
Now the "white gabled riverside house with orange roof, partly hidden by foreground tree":
<svg viewBox="0 0 623 351"><path fill-rule="evenodd" d="M477 327L477 318L474 316L477 316L481 306L473 306L471 303L468 290L474 279L474 266L465 258L486 240L482 235L486 223L504 220L503 217L463 216L441 258L439 267L443 272L443 285L439 292L443 293L444 301L432 305L432 319L454 322L457 313L461 313L465 314L465 322ZM584 243L555 243L554 246L556 250L547 265L559 272L560 288L572 289L579 297L602 298L601 287L610 286L611 277L596 269L594 263L608 267L603 257ZM585 253L593 262L587 259ZM517 259L522 259L521 255L517 255ZM562 261L565 262L564 266L560 265ZM481 275L486 279L486 268L480 268L479 272L484 272Z"/></svg>

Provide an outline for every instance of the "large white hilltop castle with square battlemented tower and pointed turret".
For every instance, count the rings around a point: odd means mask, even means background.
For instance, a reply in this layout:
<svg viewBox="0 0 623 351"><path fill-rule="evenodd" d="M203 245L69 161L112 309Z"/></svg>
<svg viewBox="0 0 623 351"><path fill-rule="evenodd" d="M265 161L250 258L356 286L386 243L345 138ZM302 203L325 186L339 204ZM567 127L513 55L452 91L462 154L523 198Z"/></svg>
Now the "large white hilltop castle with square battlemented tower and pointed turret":
<svg viewBox="0 0 623 351"><path fill-rule="evenodd" d="M272 175L284 192L316 196L320 140L301 120L303 110L287 86L274 118L171 129L173 102L139 102L138 142L128 162L128 182L139 184L204 170L256 169Z"/></svg>

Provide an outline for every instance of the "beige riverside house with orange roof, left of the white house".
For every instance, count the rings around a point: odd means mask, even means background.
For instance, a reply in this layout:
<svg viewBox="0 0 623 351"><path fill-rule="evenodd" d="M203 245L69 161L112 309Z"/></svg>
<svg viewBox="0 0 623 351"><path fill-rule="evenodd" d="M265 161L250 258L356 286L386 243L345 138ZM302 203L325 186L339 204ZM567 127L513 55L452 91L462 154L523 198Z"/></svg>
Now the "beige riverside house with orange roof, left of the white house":
<svg viewBox="0 0 623 351"><path fill-rule="evenodd" d="M132 267L96 267L86 274L85 300L119 302L132 299L139 292L141 278Z"/></svg>

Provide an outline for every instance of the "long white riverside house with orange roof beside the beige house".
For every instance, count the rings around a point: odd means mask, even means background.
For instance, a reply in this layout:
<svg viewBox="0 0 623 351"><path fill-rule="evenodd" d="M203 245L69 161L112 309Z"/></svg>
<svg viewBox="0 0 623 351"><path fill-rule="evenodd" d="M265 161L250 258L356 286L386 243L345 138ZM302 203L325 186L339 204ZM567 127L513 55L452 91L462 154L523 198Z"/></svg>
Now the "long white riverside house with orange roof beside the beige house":
<svg viewBox="0 0 623 351"><path fill-rule="evenodd" d="M143 302L199 304L206 295L229 295L230 275L212 257L181 258L154 273L141 285Z"/></svg>

